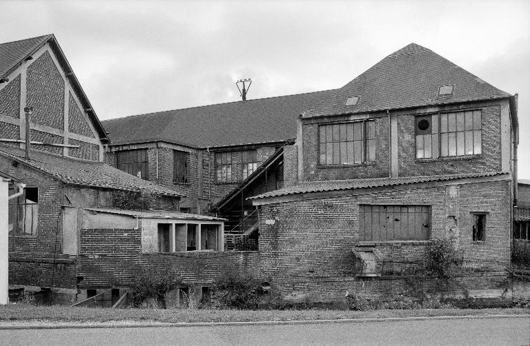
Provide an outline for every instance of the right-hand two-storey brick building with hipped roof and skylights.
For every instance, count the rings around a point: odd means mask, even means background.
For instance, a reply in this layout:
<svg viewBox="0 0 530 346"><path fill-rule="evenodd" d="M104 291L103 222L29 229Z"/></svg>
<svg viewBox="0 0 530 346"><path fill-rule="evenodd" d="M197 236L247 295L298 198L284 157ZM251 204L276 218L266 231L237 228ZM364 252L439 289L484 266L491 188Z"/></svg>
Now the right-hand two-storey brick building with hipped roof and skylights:
<svg viewBox="0 0 530 346"><path fill-rule="evenodd" d="M284 152L284 165L297 167L284 170L291 183L252 198L261 272L286 297L402 294L397 273L435 238L451 239L480 272L462 278L471 291L502 294L517 96L412 43L298 126Z"/></svg>

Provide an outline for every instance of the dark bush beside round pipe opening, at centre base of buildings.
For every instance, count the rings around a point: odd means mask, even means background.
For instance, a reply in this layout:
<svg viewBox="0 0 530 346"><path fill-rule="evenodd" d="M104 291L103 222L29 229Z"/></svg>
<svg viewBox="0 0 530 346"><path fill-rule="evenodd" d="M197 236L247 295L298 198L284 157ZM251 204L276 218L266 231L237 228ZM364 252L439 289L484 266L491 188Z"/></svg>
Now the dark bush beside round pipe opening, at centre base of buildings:
<svg viewBox="0 0 530 346"><path fill-rule="evenodd" d="M259 304L259 296L263 294L261 282L237 269L226 270L215 282L219 303L238 309L255 309Z"/></svg>

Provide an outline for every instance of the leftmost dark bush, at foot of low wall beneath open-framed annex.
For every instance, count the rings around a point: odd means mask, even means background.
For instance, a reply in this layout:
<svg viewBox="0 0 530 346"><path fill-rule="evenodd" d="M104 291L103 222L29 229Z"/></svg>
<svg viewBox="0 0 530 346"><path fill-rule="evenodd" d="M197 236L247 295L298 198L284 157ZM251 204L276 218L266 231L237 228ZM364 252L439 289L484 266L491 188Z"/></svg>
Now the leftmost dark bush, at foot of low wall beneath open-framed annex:
<svg viewBox="0 0 530 346"><path fill-rule="evenodd" d="M166 293L177 288L182 278L175 272L159 272L154 267L141 268L135 277L132 289L135 307L146 305L150 298L154 298L165 307Z"/></svg>

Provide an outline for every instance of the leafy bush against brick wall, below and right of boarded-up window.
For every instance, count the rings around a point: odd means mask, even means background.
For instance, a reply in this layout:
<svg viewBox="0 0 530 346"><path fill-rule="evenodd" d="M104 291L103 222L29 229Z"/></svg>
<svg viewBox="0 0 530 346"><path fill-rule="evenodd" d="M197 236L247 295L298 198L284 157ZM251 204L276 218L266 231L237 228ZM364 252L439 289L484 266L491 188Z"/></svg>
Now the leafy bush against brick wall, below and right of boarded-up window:
<svg viewBox="0 0 530 346"><path fill-rule="evenodd" d="M435 239L427 247L425 270L440 278L451 278L462 267L463 258L449 239Z"/></svg>

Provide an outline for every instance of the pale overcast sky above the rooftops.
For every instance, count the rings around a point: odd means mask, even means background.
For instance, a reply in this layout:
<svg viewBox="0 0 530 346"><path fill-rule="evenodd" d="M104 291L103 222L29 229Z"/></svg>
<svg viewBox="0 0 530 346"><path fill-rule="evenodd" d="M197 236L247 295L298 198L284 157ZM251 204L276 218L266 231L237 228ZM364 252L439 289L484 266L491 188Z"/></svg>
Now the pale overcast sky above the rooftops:
<svg viewBox="0 0 530 346"><path fill-rule="evenodd" d="M530 179L530 1L0 1L0 28L55 34L101 120L340 88L415 42L520 94Z"/></svg>

